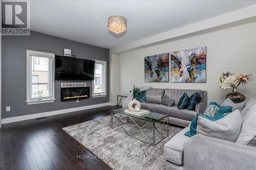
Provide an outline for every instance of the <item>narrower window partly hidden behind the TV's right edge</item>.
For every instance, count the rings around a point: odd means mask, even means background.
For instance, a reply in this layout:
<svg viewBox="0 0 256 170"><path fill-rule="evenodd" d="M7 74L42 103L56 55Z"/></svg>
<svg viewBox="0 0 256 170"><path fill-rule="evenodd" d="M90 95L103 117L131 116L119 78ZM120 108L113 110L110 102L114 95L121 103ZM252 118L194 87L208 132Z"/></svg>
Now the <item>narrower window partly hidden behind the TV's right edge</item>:
<svg viewBox="0 0 256 170"><path fill-rule="evenodd" d="M93 96L106 95L106 62L95 61Z"/></svg>

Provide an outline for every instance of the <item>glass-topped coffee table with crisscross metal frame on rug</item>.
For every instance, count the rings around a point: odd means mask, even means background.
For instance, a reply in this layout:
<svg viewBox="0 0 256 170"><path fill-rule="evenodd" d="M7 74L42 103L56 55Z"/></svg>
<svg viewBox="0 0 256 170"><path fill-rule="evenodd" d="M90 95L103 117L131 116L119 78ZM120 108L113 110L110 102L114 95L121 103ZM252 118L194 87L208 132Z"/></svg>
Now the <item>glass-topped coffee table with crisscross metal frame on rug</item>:
<svg viewBox="0 0 256 170"><path fill-rule="evenodd" d="M165 137L167 137L169 135L169 117L168 117L168 115L150 112L150 113L144 114L142 116L138 116L138 115L134 115L134 114L130 114L130 113L125 113L124 112L125 109L127 109L127 108L116 109L116 110L111 111L111 128L112 129L115 129L116 127L121 127L122 130L125 132L125 134L132 136L132 137L134 137L140 141L143 141L145 143L151 144L151 145L155 145L155 144L159 143L160 141L162 141ZM122 116L125 116L125 118L123 118ZM113 127L113 117L119 123L119 125L116 127ZM134 124L129 123L130 119L132 120L132 123L134 123ZM139 123L140 123L140 125L139 125ZM167 127L163 128L164 126L166 126L165 123L167 124ZM142 139L139 139L138 137L130 135L127 132L127 129L129 129L129 126L132 126L132 125L136 125L136 127L138 127L138 130L142 134L144 134L146 136L146 138L149 139L151 142L146 142ZM156 127L156 125L157 125L157 127ZM163 129L165 129L165 133L164 133ZM149 130L153 134L149 133ZM157 141L157 142L156 142L156 137L155 137L156 132L160 138L159 141Z"/></svg>

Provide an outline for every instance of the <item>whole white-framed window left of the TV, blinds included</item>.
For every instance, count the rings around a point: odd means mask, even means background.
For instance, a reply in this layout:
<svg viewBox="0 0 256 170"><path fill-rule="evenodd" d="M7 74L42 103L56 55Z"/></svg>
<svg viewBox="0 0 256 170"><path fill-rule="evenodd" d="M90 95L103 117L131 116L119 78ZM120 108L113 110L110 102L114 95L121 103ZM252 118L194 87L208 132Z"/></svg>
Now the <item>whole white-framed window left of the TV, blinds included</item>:
<svg viewBox="0 0 256 170"><path fill-rule="evenodd" d="M54 54L27 50L27 104L54 102L53 61Z"/></svg>

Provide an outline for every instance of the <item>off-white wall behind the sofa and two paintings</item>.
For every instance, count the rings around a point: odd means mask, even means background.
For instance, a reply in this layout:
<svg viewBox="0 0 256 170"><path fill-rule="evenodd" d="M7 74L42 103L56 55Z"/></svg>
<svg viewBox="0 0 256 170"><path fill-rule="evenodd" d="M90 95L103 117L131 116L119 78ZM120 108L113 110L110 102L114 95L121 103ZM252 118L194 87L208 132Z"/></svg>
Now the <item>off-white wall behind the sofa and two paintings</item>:
<svg viewBox="0 0 256 170"><path fill-rule="evenodd" d="M144 82L144 57L199 46L207 46L207 83ZM231 90L220 89L219 76L228 69L239 74L254 74L253 80L245 86L239 86L238 90L247 99L256 94L256 22L145 47L119 54L119 57L120 93L128 93L133 84L137 87L201 89L208 92L208 101L215 99L222 102Z"/></svg>

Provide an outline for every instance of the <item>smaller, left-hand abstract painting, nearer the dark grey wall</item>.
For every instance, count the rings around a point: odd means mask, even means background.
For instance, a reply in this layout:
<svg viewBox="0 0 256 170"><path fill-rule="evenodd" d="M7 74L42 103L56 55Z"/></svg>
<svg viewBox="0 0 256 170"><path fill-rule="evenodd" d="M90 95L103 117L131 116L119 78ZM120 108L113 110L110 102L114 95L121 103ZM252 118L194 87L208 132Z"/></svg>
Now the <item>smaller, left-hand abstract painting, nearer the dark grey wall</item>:
<svg viewBox="0 0 256 170"><path fill-rule="evenodd" d="M169 53L144 59L145 82L169 82Z"/></svg>

